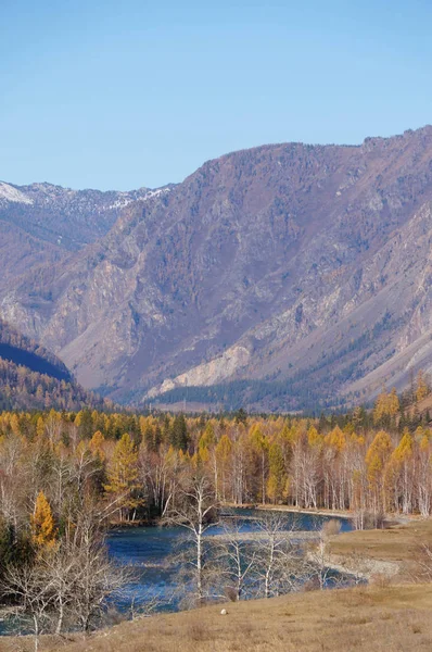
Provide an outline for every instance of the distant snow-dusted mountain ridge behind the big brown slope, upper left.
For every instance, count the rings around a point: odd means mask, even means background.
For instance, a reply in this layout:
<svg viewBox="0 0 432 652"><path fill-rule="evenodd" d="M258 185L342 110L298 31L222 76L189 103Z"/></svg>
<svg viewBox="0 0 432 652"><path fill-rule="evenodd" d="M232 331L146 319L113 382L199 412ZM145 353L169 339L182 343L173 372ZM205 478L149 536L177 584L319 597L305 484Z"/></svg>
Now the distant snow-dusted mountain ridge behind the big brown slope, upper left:
<svg viewBox="0 0 432 652"><path fill-rule="evenodd" d="M0 181L0 287L94 242L110 230L124 206L160 191L101 192Z"/></svg>

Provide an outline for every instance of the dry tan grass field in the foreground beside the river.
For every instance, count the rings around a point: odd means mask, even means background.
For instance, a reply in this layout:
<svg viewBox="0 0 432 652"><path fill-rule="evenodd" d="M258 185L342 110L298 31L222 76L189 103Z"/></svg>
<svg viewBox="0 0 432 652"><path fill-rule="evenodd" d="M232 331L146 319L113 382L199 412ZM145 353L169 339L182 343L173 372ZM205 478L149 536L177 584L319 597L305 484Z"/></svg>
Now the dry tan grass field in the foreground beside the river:
<svg viewBox="0 0 432 652"><path fill-rule="evenodd" d="M432 585L411 580L421 541L432 541L432 522L335 537L339 557L368 556L401 565L389 581L352 589L312 591L229 603L123 623L87 641L49 639L47 652L420 652L432 650ZM405 584L404 580L405 579ZM397 582L397 584L393 584ZM29 651L30 639L3 639L4 652Z"/></svg>

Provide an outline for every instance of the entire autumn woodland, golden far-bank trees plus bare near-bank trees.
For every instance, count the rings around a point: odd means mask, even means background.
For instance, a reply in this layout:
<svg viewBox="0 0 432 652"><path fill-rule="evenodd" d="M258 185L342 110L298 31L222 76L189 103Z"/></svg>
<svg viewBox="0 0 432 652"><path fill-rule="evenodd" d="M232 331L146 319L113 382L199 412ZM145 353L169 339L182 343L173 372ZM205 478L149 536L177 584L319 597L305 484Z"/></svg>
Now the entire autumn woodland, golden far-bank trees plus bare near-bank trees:
<svg viewBox="0 0 432 652"><path fill-rule="evenodd" d="M381 527L389 513L428 517L432 430L428 412L420 414L416 405L429 394L419 373L410 392L382 391L371 411L356 408L319 418L241 409L218 416L3 411L1 602L20 606L37 635L48 620L50 631L71 623L89 631L101 622L109 597L127 581L104 547L113 525L189 528L196 604L206 595L202 536L221 507L340 511L350 513L358 529ZM270 597L290 590L298 555L278 542L280 524L268 521L263 527L283 564L278 570L272 566L272 584L265 586L268 549L257 546L250 568L261 582L257 594ZM231 548L224 555L233 579L232 554L237 551L239 561L240 548L236 537L227 540ZM238 581L243 567L239 561ZM301 573L304 578L304 566ZM322 573L313 576L323 585ZM240 599L243 588L231 590Z"/></svg>

